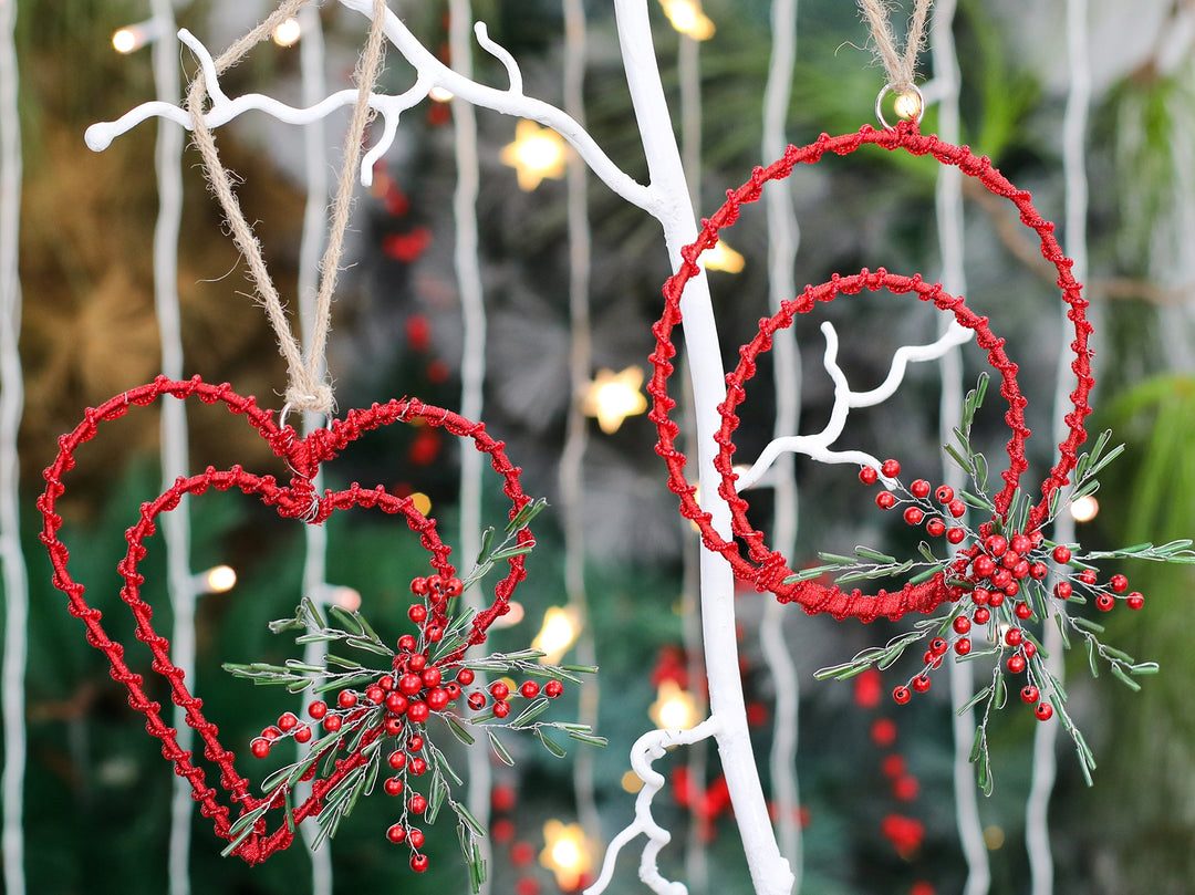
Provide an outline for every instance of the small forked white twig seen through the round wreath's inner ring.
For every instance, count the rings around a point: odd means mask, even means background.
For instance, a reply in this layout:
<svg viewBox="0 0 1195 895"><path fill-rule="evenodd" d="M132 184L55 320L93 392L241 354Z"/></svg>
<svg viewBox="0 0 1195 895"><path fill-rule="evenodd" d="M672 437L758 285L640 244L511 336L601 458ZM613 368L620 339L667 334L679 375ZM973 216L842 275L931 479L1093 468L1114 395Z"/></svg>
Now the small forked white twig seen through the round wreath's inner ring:
<svg viewBox="0 0 1195 895"><path fill-rule="evenodd" d="M974 335L966 326L960 326L957 321L951 320L950 326L946 327L946 331L936 342L927 345L902 345L897 348L893 354L891 367L883 384L866 392L853 392L846 380L846 374L838 366L838 331L829 321L821 325L821 331L826 337L826 355L823 361L826 372L834 382L834 406L831 410L829 422L816 435L788 435L768 442L752 467L739 477L736 485L740 491L758 483L768 471L772 462L785 452L804 454L813 460L825 464L851 462L878 468L880 461L865 450L831 449L831 445L842 434L847 415L854 407L870 407L890 398L903 381L905 370L909 363L934 361L951 348L966 344ZM703 494L705 494L704 490Z"/></svg>

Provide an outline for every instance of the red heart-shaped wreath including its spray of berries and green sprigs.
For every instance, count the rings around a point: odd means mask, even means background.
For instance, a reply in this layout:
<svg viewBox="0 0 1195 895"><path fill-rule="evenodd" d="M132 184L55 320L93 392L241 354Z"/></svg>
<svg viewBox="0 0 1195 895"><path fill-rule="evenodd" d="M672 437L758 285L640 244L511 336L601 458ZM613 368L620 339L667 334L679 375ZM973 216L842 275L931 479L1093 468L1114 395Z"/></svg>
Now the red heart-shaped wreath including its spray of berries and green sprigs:
<svg viewBox="0 0 1195 895"><path fill-rule="evenodd" d="M124 581L121 599L136 620L136 637L148 645L153 670L166 679L174 703L185 709L188 724L204 744L203 758L219 768L220 789L238 807L235 819L231 817L231 807L217 798L217 791L208 786L203 767L192 761L191 753L179 748L176 731L163 721L160 704L147 697L142 675L125 663L124 646L109 638L100 612L85 599L85 586L71 576L69 552L59 539L62 517L56 505L66 492L63 478L75 466L76 450L97 435L99 425L123 417L130 407L151 405L159 398L186 400L192 397L243 416L265 439L274 454L286 461L292 478L283 485L272 476L258 476L240 466L225 471L208 467L203 473L179 478L158 497L142 504L140 520L125 533L128 552L118 563L117 571ZM320 495L312 482L321 464L333 459L364 433L412 421L471 439L478 450L490 456L490 464L502 477L503 491L511 503L504 539L495 544L494 533L486 533L482 556L464 578L458 577L449 562L451 548L441 541L435 520L424 516L409 497L399 497L381 485L366 489L356 483L348 489L329 489ZM544 505L543 501L532 501L523 494L519 482L520 470L507 459L504 445L485 433L484 424L410 398L349 411L343 419L333 421L330 428L299 437L293 428L276 424L271 411L258 407L251 397L237 394L227 384L213 386L198 376L188 381L160 376L152 384L88 409L82 422L59 439L59 448L55 462L44 472L47 488L37 502L44 520L41 540L54 566L54 586L67 595L69 612L86 625L88 643L108 656L111 676L128 689L129 705L145 715L148 732L163 743L163 755L174 765L180 777L190 781L192 797L200 803L203 816L212 819L216 835L228 840L226 854L237 854L251 864L265 860L292 844L295 826L307 817L318 819L321 839L332 835L357 798L374 789L381 776L384 747L392 743L385 760L394 773L384 783L384 789L390 795L405 791L406 798L402 819L390 828L388 838L405 842L411 848L412 869L424 870L427 856L419 851L423 833L412 824L410 815L434 817L442 804L449 804L459 820L461 846L473 868L476 889L484 877L484 868L477 859L476 838L484 835L484 829L462 805L452 799L452 784L459 784L460 778L443 760L429 722L439 718L448 731L466 742L472 738L470 729L484 725L495 753L505 761L510 760L510 755L489 729L491 727L527 730L556 755L563 755L563 748L547 736L547 729L558 729L582 742L605 742L586 725L539 721L549 707L547 700L563 692L564 681L580 683L578 673L595 669L540 666L535 661L539 654L534 650L484 658L466 656L470 646L485 642L488 629L508 611L511 593L526 576L525 557L534 546L527 526ZM159 517L174 510L184 495L200 496L209 488L257 496L264 504L274 507L281 517L308 525L320 525L337 510L376 508L404 517L430 556L433 574L417 576L411 584L418 600L409 608L407 617L419 633L400 637L397 650L381 640L360 613L332 607L330 618L325 619L310 600L300 603L294 618L274 626L275 630L302 629L299 642L314 638L341 643L358 654L372 656L373 666L332 654L323 666L294 661L281 667L263 663L229 666L229 670L239 676L259 683L281 683L292 692L314 687L318 693L337 693L331 706L324 701L312 705L312 721L318 721L324 731L319 738L314 738L311 724L283 712L276 725L268 725L250 744L250 752L257 758L265 758L283 738L293 738L307 747L304 758L263 783L262 796L252 793L250 781L237 770L233 750L223 747L216 725L204 717L202 700L188 689L183 672L171 661L170 642L154 631L152 607L141 597L145 578L139 564L148 553L147 541L154 534ZM466 587L478 584L498 563L505 563L508 571L495 586L490 605L478 612L460 609L456 597ZM468 692L474 672L482 670L519 673L526 680L516 694L511 694L502 681L495 681L484 694ZM535 679L546 682L540 685ZM515 695L527 705L514 718L505 721L511 713L510 699ZM462 699L472 716L455 713L454 706ZM407 786L409 776L421 777L423 773L429 774L427 796ZM311 781L312 792L306 801L295 804L293 790L300 780ZM283 817L270 829L269 820L276 810L281 810Z"/></svg>

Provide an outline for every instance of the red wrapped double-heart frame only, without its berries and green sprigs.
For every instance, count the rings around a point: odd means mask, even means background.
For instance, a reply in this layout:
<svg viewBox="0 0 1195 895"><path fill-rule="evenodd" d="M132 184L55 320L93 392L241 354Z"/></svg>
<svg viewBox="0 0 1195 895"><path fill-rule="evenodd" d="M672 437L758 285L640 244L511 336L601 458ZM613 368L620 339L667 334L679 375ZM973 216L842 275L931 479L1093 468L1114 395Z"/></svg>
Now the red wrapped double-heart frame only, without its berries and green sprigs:
<svg viewBox="0 0 1195 895"><path fill-rule="evenodd" d="M183 672L171 661L168 640L160 637L153 629L153 611L140 595L145 578L137 571L137 564L146 557L145 541L153 535L158 517L163 513L170 513L177 508L183 495L202 495L209 488L215 488L217 491L235 489L245 495L255 495L266 505L274 507L280 516L301 520L308 525L321 523L336 510L376 507L384 513L403 516L410 529L419 535L421 542L430 553L430 563L436 574L443 580L452 578L455 570L448 558L451 548L440 540L435 521L419 513L410 498L398 497L381 485L374 489L363 489L356 483L345 490L332 491L329 489L319 495L312 484L312 478L321 464L333 459L345 446L356 441L364 433L392 423L412 421L422 421L428 425L442 428L458 437L472 439L478 450L489 454L495 472L504 479L503 491L513 504L510 517L514 517L529 503L531 498L522 492L519 483L520 470L507 459L504 445L491 439L485 433L484 424L473 423L456 413L423 404L415 398L391 400L386 404L374 404L366 410L349 411L343 419L333 421L330 428L318 429L306 437L299 437L292 427L277 425L272 419L272 411L258 407L252 397L245 398L237 394L227 384L213 386L203 382L198 376L182 382L159 376L148 385L133 388L98 407L88 409L84 413L82 422L73 431L59 439L57 459L43 473L47 486L37 501L37 507L44 519L41 540L49 551L50 562L54 565L54 586L67 595L71 614L82 619L86 625L87 642L108 656L111 676L122 682L129 692L129 705L146 716L146 729L161 740L163 755L174 765L176 773L190 781L192 797L200 803L203 816L213 819L216 835L232 841L234 835L229 830L234 819L229 820L229 805L221 803L217 799L217 791L207 785L204 771L192 764L191 753L179 748L176 730L167 727L161 718L161 706L149 700L145 694L141 686L142 676L125 664L124 648L111 640L105 633L100 624L99 611L88 606L84 597L84 584L71 577L68 571L69 553L66 545L57 538L62 519L55 511L55 503L66 491L62 479L75 465L75 450L96 436L100 423L118 419L130 407L152 404L160 397L179 400L196 397L206 404L222 404L229 413L243 416L245 422L265 439L274 454L286 461L293 473L289 483L284 485L278 484L272 476L258 476L240 466L233 466L226 471L209 467L201 474L179 478L157 498L142 504L141 519L125 533L129 542L128 552L117 565L117 570L124 578L121 599L129 606L136 620L136 637L149 646L153 654L153 670L167 680L172 699L185 710L188 724L196 730L203 741L203 756L220 768L220 789L228 795L231 803L238 807L239 816L261 808L266 802L270 802L271 810L283 808L287 793L280 787L264 798L251 795L250 781L241 777L235 768L233 752L220 743L216 725L203 715L202 700L191 695L186 688ZM526 527L517 532L516 542L519 545L532 542L531 532ZM526 576L523 557L521 554L511 556L508 559L508 566L507 576L495 586L492 602L473 619L466 638L467 643L439 660L436 666L459 664L467 646L482 643L485 639L486 629L508 611L511 593ZM354 749L336 760L331 773L312 780L311 797L289 809L290 817L270 830L266 819L263 816L255 826L253 832L237 846L234 853L250 864L255 864L290 845L294 839L294 824L306 817L318 815L324 808L324 797L329 791L347 774L368 760L363 754L366 748L384 735L385 730L381 724L368 730Z"/></svg>

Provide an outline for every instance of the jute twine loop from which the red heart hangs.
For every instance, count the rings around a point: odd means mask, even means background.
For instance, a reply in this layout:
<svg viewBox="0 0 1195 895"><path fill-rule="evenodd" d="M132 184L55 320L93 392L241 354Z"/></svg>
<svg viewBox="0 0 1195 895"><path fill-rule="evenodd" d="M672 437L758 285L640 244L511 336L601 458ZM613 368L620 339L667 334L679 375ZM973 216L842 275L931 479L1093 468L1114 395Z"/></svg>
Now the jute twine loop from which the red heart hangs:
<svg viewBox="0 0 1195 895"><path fill-rule="evenodd" d="M274 29L298 12L307 0L283 0L259 25L249 31L215 60L216 73L226 72L237 65L255 45L268 38ZM208 96L207 82L202 71L195 75L186 94L186 111L191 116L195 145L203 159L203 173L212 184L212 190L223 209L225 217L232 229L233 241L249 264L250 275L257 289L257 300L265 307L265 314L278 341L278 350L287 362L288 385L284 393L288 409L311 410L318 413L330 413L333 409L332 387L325 381L324 364L327 348L327 332L331 325L332 292L339 271L341 255L344 251L344 234L349 225L349 212L353 206L353 188L357 176L361 158L361 143L366 127L373 118L369 97L373 93L381 71L384 44L382 24L386 19L385 0L374 0L373 20L369 36L361 57L357 60L355 78L357 80L357 100L353 106L353 117L344 137L344 166L332 201L332 222L329 231L327 247L320 262L319 292L315 296L315 319L307 344L306 358L302 347L290 329L287 312L278 290L270 278L262 252L262 244L253 234L253 228L240 209L240 203L232 190L232 178L220 161L215 137L203 119L203 100Z"/></svg>

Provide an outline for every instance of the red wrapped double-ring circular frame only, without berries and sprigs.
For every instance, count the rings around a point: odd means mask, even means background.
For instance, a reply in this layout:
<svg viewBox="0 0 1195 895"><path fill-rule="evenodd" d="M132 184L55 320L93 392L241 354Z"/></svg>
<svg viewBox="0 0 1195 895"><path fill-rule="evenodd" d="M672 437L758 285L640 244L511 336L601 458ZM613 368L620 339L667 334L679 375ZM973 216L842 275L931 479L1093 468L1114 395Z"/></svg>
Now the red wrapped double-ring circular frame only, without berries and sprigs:
<svg viewBox="0 0 1195 895"><path fill-rule="evenodd" d="M1068 427L1066 437L1059 443L1059 459L1042 483L1042 499L1029 513L1025 533L1031 533L1049 517L1050 496L1070 482L1070 473L1076 465L1076 452L1086 440L1084 419L1091 412L1087 398L1095 380L1091 376L1091 351L1087 338L1091 324L1086 320L1087 301L1081 295L1081 287L1076 282L1071 268L1073 262L1067 258L1058 240L1054 239L1054 225L1044 220L1034 208L1031 196L1013 186L986 157L976 157L966 146L954 146L934 135L924 135L913 122L901 122L895 128L877 130L870 125L858 133L841 136L822 134L816 142L803 147L790 146L784 157L767 167L756 167L742 186L727 191L727 201L711 217L703 220L701 233L694 243L681 250L680 269L668 278L663 287L663 315L652 326L656 336L656 350L651 354L654 373L648 385L652 396L651 419L656 424L658 453L668 466L669 489L680 497L681 514L692 520L701 533L706 547L722 553L733 566L735 575L752 582L759 590L770 590L780 602L796 602L809 614L831 613L834 618L857 617L865 621L885 615L899 619L907 612L932 612L945 600L957 599L951 595L942 575L937 575L920 584L905 584L897 593L880 590L875 595L862 590L842 591L840 588L825 587L815 581L785 583L792 576L788 560L778 552L767 547L764 534L747 521L747 501L735 488L736 473L733 471L731 454L734 443L731 435L739 424L735 407L746 397L744 384L755 373L755 361L760 354L771 349L772 335L789 326L795 314L810 311L819 301L831 301L838 295L850 295L863 289L876 290L887 288L893 293L913 293L923 301L931 301L943 311L954 313L955 319L976 333L979 345L987 350L988 362L1001 376L1000 394L1009 403L1005 422L1012 430L1007 443L1009 468L1001 473L1003 490L993 497L997 508L993 522L1007 519L1010 504L1017 490L1021 473L1028 467L1024 456L1024 442L1029 429L1024 422L1025 398L1017 385L1017 366L1004 353L1004 339L998 338L988 327L986 317L975 314L961 298L946 294L940 284L929 284L920 276L905 277L889 274L882 268L875 272L866 269L852 276L834 277L828 283L805 287L797 299L782 302L782 309L770 319L760 321L759 335L747 345L740 348L741 361L736 369L727 376L727 399L719 404L722 427L716 435L718 454L715 467L722 477L719 495L728 502L731 511L731 531L734 538L723 538L715 531L711 515L697 502L695 486L685 478L686 459L676 449L675 440L679 428L670 419L669 411L676 401L668 397L668 378L673 373L670 358L676 354L672 343L672 332L681 320L680 302L685 286L700 268L697 264L703 252L712 249L718 241L718 234L735 223L743 204L759 200L764 184L770 180L783 180L799 164L815 164L827 153L848 155L860 146L875 145L890 152L902 149L912 155L931 155L939 164L952 165L967 177L979 180L989 192L1007 198L1021 213L1021 222L1036 232L1041 241L1041 253L1058 270L1058 286L1062 300L1068 306L1067 319L1074 327L1074 341L1071 349L1074 361L1077 385L1070 394L1072 411L1066 416ZM739 540L736 540L739 539ZM744 556L740 541L747 545ZM973 545L972 550L975 547Z"/></svg>

